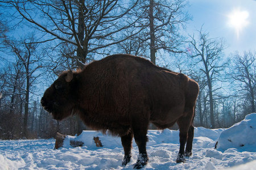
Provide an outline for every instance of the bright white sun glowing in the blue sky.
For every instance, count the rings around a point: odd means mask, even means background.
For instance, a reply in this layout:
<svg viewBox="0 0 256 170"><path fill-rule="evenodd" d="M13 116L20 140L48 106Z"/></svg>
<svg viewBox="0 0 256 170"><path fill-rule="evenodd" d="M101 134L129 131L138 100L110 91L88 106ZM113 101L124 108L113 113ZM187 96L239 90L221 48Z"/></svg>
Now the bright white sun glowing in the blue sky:
<svg viewBox="0 0 256 170"><path fill-rule="evenodd" d="M240 32L242 29L249 24L247 21L249 17L249 12L247 11L240 11L240 10L234 10L229 14L229 25L230 27L233 27L236 29L237 37L239 37Z"/></svg>

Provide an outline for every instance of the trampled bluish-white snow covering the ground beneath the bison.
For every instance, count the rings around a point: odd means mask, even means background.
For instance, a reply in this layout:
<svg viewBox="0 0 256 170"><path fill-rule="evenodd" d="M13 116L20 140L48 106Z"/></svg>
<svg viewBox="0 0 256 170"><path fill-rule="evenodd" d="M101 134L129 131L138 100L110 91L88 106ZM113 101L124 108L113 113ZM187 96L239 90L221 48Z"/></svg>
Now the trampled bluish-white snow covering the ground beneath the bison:
<svg viewBox="0 0 256 170"><path fill-rule="evenodd" d="M255 133L255 113L229 129L195 128L193 155L177 164L179 131L149 130L150 159L143 169L256 169ZM100 137L103 147L96 147L95 136ZM84 146L72 148L70 139L83 141ZM55 139L0 141L0 169L132 169L138 156L134 142L133 158L122 167L121 139L97 131L68 136L58 150L53 150L54 145Z"/></svg>

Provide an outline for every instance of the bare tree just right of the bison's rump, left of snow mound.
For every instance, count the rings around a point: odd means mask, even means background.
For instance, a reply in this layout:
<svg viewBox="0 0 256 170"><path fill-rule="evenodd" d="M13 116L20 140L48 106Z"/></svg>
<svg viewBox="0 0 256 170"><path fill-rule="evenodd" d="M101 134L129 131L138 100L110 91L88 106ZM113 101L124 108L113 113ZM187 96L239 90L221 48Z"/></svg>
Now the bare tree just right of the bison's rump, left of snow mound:
<svg viewBox="0 0 256 170"><path fill-rule="evenodd" d="M222 39L210 39L209 33L203 32L202 28L197 32L199 33L198 39L195 35L190 36L188 56L193 59L191 67L199 69L205 77L204 82L208 87L210 104L210 128L215 128L213 94L220 87L214 88L214 83L219 80L221 71L224 71L228 65L223 53L225 42Z"/></svg>

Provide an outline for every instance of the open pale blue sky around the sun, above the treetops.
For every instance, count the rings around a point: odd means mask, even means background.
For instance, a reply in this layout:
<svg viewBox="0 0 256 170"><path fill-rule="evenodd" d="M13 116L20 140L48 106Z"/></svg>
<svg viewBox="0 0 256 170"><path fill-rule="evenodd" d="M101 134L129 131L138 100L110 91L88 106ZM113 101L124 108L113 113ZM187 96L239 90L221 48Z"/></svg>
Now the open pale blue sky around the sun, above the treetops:
<svg viewBox="0 0 256 170"><path fill-rule="evenodd" d="M193 20L187 25L189 34L201 28L210 38L224 37L228 48L234 51L256 50L255 0L190 0L188 8ZM239 24L241 23L241 24Z"/></svg>

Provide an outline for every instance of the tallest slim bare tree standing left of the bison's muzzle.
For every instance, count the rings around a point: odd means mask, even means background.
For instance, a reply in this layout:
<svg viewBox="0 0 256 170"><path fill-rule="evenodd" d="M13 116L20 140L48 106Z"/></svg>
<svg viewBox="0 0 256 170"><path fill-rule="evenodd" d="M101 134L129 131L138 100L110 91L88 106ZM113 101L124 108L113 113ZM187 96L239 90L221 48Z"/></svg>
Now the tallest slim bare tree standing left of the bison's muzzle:
<svg viewBox="0 0 256 170"><path fill-rule="evenodd" d="M15 79L15 86L19 86L21 89L21 93L25 95L25 103L24 103L24 119L23 119L23 136L27 137L27 125L28 125L28 109L29 109L29 102L30 102L30 93L31 87L33 84L36 83L36 80L43 74L42 72L38 71L42 68L42 55L40 53L36 53L36 48L38 44L34 44L35 41L34 36L21 39L20 41L15 40L8 40L5 39L4 44L6 48L10 51L7 53L11 53L16 57L16 61L19 62L18 68L19 71L22 69L23 74L23 82L25 85L20 86L17 84ZM21 73L19 73L21 74ZM15 92L15 91L14 91ZM12 107L12 106L11 106Z"/></svg>

